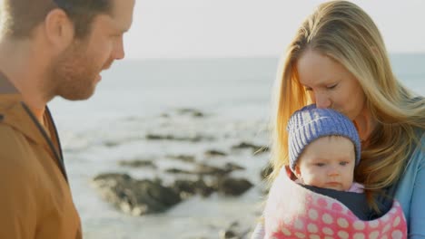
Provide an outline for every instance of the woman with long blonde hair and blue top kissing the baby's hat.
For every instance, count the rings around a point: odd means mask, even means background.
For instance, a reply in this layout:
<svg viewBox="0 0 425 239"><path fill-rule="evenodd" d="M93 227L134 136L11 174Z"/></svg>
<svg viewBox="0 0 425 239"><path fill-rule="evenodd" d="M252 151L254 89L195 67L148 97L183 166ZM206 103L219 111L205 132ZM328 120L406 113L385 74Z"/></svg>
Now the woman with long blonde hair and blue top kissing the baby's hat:
<svg viewBox="0 0 425 239"><path fill-rule="evenodd" d="M397 199L410 238L425 238L425 99L397 81L371 17L346 1L319 5L301 24L280 70L271 179L289 165L292 113L310 103L338 110L359 130L355 181L365 186L371 207ZM262 236L259 224L252 237Z"/></svg>

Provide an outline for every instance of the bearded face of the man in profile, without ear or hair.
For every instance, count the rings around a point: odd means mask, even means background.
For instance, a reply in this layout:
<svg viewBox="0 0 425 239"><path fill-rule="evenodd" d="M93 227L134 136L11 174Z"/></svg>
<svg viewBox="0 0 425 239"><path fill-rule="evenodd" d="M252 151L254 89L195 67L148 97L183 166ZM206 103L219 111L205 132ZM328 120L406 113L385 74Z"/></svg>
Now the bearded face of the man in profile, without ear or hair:
<svg viewBox="0 0 425 239"><path fill-rule="evenodd" d="M112 0L112 14L94 17L91 32L74 42L53 62L55 95L85 100L93 95L100 72L124 58L124 33L133 21L134 0Z"/></svg>

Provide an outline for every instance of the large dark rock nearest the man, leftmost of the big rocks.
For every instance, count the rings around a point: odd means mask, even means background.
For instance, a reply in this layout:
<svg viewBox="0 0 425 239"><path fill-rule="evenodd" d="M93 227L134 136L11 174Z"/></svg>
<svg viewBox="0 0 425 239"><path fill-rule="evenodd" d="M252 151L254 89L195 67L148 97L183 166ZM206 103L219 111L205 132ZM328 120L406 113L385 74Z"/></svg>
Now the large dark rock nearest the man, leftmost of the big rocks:
<svg viewBox="0 0 425 239"><path fill-rule="evenodd" d="M107 202L130 215L160 213L182 200L159 181L136 180L126 174L102 174L93 183Z"/></svg>

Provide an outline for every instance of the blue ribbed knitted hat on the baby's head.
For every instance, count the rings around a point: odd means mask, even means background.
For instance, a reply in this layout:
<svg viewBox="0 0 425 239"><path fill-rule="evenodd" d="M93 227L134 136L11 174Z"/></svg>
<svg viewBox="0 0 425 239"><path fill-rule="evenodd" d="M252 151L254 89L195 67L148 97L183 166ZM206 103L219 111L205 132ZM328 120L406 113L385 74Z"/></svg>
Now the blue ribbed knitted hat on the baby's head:
<svg viewBox="0 0 425 239"><path fill-rule="evenodd" d="M295 165L304 148L315 139L342 136L351 139L356 153L356 166L361 158L361 141L350 119L331 109L318 109L308 105L292 114L287 127L290 167Z"/></svg>

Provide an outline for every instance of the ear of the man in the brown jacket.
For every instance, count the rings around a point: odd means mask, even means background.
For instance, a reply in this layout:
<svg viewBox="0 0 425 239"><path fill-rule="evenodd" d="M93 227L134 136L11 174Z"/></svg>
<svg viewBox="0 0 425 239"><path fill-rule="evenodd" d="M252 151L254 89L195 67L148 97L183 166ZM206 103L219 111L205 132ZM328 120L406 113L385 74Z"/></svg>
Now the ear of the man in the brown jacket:
<svg viewBox="0 0 425 239"><path fill-rule="evenodd" d="M63 51L74 40L74 24L64 10L56 8L45 16L44 33L51 47Z"/></svg>

